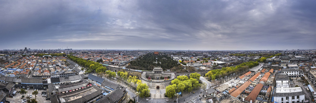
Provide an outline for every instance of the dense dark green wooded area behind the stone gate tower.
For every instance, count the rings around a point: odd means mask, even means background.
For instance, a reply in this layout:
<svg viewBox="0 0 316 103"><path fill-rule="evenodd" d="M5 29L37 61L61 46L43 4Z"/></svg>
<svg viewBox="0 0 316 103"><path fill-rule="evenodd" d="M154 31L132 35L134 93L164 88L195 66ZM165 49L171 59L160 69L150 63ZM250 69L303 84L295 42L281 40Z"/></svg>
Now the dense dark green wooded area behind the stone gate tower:
<svg viewBox="0 0 316 103"><path fill-rule="evenodd" d="M156 61L158 63L154 63ZM131 61L130 65L128 65L127 68L137 70L153 70L155 66L160 66L162 69L167 70L178 65L180 65L178 64L178 61L173 60L167 55L153 55L151 53L148 53L144 56L139 57L137 60Z"/></svg>

